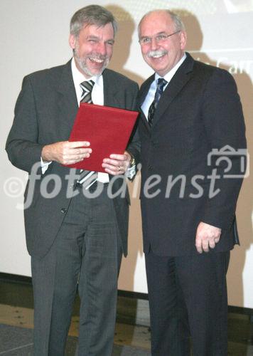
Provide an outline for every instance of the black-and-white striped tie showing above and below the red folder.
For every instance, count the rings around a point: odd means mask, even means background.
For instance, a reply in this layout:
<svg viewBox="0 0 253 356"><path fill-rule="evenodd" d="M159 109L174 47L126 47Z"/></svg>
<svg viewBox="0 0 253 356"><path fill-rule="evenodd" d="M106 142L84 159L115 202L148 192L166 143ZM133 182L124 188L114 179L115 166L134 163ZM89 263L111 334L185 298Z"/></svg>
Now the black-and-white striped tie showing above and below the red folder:
<svg viewBox="0 0 253 356"><path fill-rule="evenodd" d="M92 89L94 86L93 80L87 80L80 84L82 88L82 96L80 103L92 104ZM80 177L77 181L78 184L85 186L85 189L90 189L91 186L95 187L95 182L97 182L97 172L82 170Z"/></svg>

